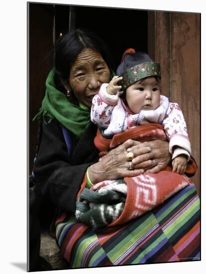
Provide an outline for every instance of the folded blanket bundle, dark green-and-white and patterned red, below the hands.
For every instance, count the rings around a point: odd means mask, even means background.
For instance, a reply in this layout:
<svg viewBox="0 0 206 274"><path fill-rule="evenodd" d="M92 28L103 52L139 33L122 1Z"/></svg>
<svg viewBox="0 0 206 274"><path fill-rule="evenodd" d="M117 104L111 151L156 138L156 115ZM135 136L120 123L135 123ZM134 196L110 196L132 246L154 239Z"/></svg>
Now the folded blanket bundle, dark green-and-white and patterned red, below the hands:
<svg viewBox="0 0 206 274"><path fill-rule="evenodd" d="M95 228L123 224L152 210L191 183L187 176L171 171L106 180L83 189L76 203L76 218Z"/></svg>

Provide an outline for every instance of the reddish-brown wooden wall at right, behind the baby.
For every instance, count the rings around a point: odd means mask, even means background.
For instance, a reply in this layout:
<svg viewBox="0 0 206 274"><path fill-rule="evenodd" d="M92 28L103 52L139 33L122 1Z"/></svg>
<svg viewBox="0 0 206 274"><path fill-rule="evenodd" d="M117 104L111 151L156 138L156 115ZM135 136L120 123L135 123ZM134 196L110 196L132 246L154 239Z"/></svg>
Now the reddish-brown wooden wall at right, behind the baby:
<svg viewBox="0 0 206 274"><path fill-rule="evenodd" d="M148 12L148 52L161 64L163 95L184 113L200 195L200 14Z"/></svg>

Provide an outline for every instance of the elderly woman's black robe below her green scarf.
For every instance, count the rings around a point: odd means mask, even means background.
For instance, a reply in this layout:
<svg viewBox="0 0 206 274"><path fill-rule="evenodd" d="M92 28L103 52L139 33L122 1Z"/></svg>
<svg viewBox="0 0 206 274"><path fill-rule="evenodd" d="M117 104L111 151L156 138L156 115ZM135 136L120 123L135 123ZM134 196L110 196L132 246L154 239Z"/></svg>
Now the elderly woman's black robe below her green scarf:
<svg viewBox="0 0 206 274"><path fill-rule="evenodd" d="M57 120L41 125L29 193L29 271L40 271L40 230L48 229L58 210L75 213L76 198L87 168L99 160L94 145L97 127L90 123L80 138L71 133L71 152ZM46 267L48 269L48 267Z"/></svg>

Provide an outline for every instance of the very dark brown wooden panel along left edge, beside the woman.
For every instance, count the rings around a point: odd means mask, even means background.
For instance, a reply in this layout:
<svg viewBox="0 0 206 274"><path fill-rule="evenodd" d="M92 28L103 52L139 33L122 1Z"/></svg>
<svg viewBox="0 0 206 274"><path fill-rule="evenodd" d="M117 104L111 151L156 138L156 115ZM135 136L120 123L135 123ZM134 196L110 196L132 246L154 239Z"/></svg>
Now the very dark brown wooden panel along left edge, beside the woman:
<svg viewBox="0 0 206 274"><path fill-rule="evenodd" d="M45 79L53 64L53 5L29 3L29 175L33 168L39 122L38 113L45 94Z"/></svg>

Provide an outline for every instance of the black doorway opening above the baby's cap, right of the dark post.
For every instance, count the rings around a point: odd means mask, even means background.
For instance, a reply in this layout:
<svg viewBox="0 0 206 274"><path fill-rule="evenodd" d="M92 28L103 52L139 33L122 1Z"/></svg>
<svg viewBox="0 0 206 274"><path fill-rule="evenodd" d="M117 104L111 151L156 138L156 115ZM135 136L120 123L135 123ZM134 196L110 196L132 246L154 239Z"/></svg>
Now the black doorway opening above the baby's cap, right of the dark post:
<svg viewBox="0 0 206 274"><path fill-rule="evenodd" d="M147 11L79 6L75 14L76 27L88 27L102 37L115 68L127 48L147 52Z"/></svg>

